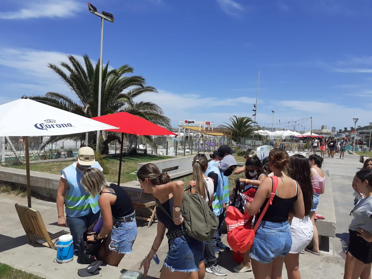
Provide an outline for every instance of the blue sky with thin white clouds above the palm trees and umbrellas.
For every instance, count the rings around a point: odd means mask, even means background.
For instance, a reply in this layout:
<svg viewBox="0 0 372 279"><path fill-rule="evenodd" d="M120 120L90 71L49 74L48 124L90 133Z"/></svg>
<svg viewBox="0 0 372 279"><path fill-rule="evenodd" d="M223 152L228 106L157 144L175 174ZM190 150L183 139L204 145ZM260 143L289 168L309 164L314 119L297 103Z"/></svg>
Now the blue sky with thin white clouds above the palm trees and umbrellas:
<svg viewBox="0 0 372 279"><path fill-rule="evenodd" d="M105 22L103 61L130 64L178 121L221 124L313 117L314 128L372 121L370 1L94 0ZM78 0L1 4L0 103L23 94L71 93L47 67L67 54L99 58L100 20ZM269 125L269 124L267 124ZM310 127L310 121L302 123ZM300 125L300 129L301 129ZM271 125L269 125L271 126Z"/></svg>

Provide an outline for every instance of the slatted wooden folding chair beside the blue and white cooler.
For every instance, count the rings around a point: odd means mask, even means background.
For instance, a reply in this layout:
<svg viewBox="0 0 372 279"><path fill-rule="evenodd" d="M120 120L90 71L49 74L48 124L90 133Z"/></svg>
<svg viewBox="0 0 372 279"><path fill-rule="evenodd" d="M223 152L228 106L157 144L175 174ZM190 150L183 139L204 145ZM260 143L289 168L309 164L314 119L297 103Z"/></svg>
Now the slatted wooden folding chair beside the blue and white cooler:
<svg viewBox="0 0 372 279"><path fill-rule="evenodd" d="M59 231L55 234L50 234L45 227L44 221L41 218L40 212L28 206L15 204L16 211L23 229L31 243L39 243L49 248L55 249L54 244L58 238L64 234L70 234L67 231Z"/></svg>

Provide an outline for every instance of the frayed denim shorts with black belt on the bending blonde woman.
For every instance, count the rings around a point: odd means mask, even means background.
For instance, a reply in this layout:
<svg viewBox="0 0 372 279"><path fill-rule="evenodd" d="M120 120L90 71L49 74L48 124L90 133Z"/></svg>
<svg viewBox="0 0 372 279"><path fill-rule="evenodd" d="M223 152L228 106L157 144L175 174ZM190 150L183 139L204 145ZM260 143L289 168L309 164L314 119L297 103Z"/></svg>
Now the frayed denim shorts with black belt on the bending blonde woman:
<svg viewBox="0 0 372 279"><path fill-rule="evenodd" d="M135 213L125 216L134 217ZM124 217L121 217L124 218ZM119 254L130 254L132 246L137 237L137 222L133 218L131 222L117 222L114 220L111 231L111 242L109 249L119 252Z"/></svg>

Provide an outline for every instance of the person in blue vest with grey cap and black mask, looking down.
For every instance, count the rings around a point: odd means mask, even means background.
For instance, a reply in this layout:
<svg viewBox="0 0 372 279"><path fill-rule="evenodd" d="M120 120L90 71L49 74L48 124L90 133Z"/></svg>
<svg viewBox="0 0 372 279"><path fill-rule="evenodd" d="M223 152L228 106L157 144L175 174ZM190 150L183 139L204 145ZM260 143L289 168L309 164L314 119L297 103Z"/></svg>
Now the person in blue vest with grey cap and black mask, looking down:
<svg viewBox="0 0 372 279"><path fill-rule="evenodd" d="M222 148L222 151L223 150L224 147ZM218 161L206 171L206 176L211 177L214 180L214 201L212 202L212 209L219 219L223 219L225 216L225 203L223 199L224 180L222 178L222 173L224 173L225 176L230 176L236 167L237 163L234 156L227 154L224 155L221 161ZM220 224L222 230L223 221L220 222ZM216 262L217 239L218 230L215 231L213 238L206 242L205 260L207 262L207 267L205 271L208 273L213 273L217 276L226 276L227 270L219 266Z"/></svg>

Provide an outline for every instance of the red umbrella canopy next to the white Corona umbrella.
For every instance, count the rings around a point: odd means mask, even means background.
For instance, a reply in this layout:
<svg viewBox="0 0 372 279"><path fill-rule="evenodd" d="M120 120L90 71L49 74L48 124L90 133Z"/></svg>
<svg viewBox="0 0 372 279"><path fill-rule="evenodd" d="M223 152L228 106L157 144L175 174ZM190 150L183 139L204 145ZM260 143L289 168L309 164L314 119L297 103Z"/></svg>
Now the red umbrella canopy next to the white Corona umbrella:
<svg viewBox="0 0 372 279"><path fill-rule="evenodd" d="M122 132L140 136L177 135L159 125L128 112L117 112L93 117L92 119L115 127L120 127L119 129L106 130L111 132ZM115 123L115 125L113 123Z"/></svg>

